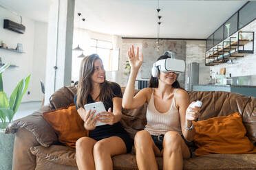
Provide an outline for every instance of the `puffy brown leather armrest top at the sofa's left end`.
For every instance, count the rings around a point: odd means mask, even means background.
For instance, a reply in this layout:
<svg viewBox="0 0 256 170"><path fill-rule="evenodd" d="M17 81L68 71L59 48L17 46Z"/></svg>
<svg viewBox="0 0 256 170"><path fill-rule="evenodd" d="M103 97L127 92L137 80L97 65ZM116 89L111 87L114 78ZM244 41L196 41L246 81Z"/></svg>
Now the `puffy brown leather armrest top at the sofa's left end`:
<svg viewBox="0 0 256 170"><path fill-rule="evenodd" d="M6 134L16 133L20 128L24 128L36 137L36 141L43 147L49 147L58 140L53 128L43 119L43 112L50 111L50 106L43 106L33 114L13 121L6 127Z"/></svg>

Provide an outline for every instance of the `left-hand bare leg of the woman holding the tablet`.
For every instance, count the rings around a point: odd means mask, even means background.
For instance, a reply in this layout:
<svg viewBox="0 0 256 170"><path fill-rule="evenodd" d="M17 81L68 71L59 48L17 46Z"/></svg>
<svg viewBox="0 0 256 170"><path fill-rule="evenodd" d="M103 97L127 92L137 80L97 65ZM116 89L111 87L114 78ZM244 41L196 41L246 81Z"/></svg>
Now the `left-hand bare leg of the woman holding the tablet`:
<svg viewBox="0 0 256 170"><path fill-rule="evenodd" d="M76 141L76 164L79 170L94 170L93 149L97 141L93 138L83 137Z"/></svg>

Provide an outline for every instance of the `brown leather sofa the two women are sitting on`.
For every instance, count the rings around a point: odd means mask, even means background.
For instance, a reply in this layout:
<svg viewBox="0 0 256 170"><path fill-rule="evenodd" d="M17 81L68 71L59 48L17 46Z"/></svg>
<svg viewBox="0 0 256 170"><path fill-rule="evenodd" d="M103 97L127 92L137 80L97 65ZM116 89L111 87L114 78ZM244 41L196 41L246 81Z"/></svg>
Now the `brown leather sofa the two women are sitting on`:
<svg viewBox="0 0 256 170"><path fill-rule="evenodd" d="M122 89L123 90L123 89ZM72 104L76 88L63 87L50 99L50 106L43 106L39 111L14 121L6 129L15 133L13 169L77 169L75 149L58 143L52 127L43 119L42 112L54 110ZM226 92L189 92L191 101L203 102L199 120L220 117L239 112L247 130L247 136L256 142L256 99L236 93ZM147 123L147 106L134 110L123 110L122 125L134 137L138 130L143 130ZM113 157L114 169L138 169L134 151ZM157 158L162 169L162 158ZM193 156L184 160L184 169L256 169L256 154L209 154Z"/></svg>

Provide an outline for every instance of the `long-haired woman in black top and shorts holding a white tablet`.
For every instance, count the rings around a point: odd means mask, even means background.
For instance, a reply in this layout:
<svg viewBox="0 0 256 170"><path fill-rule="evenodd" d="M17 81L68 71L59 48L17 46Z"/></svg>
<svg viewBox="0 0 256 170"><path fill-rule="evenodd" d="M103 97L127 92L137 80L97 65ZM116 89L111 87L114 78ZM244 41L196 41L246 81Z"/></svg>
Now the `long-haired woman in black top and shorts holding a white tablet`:
<svg viewBox="0 0 256 170"><path fill-rule="evenodd" d="M111 156L131 151L129 134L120 124L122 92L118 84L105 80L103 62L97 54L81 62L77 95L74 103L89 136L76 141L78 169L113 169ZM103 101L107 112L94 117L95 110L85 110L85 104ZM96 126L100 121L106 125Z"/></svg>

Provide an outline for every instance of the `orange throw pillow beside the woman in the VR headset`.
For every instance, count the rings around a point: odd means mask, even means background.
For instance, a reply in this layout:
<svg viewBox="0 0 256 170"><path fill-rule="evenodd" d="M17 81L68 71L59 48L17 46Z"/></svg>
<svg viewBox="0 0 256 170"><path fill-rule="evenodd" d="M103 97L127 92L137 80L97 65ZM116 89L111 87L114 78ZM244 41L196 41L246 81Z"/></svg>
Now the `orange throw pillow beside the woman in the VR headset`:
<svg viewBox="0 0 256 170"><path fill-rule="evenodd" d="M239 112L227 117L213 117L195 124L195 155L251 154L256 148L246 136Z"/></svg>

